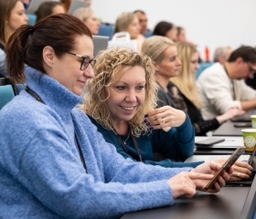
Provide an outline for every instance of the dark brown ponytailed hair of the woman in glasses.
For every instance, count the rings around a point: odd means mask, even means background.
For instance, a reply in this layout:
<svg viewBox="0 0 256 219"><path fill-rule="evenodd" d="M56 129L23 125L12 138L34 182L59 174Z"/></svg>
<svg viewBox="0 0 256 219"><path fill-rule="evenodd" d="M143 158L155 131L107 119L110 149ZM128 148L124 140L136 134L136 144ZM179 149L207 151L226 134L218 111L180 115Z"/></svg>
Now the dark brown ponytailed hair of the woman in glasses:
<svg viewBox="0 0 256 219"><path fill-rule="evenodd" d="M58 57L75 46L76 36L91 36L80 19L67 14L48 16L35 26L20 26L6 47L6 66L16 81L24 78L24 64L45 73L42 51L52 47Z"/></svg>

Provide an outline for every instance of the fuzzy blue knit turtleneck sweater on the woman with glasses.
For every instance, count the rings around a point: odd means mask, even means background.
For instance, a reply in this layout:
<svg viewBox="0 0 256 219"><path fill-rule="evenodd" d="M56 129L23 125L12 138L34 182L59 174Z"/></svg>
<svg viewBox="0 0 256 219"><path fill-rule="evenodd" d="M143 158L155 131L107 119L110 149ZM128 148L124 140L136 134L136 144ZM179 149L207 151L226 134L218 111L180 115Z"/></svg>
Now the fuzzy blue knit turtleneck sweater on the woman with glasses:
<svg viewBox="0 0 256 219"><path fill-rule="evenodd" d="M166 179L189 168L123 159L72 110L80 96L33 68L26 75L46 104L23 90L0 111L0 218L115 218L173 203Z"/></svg>

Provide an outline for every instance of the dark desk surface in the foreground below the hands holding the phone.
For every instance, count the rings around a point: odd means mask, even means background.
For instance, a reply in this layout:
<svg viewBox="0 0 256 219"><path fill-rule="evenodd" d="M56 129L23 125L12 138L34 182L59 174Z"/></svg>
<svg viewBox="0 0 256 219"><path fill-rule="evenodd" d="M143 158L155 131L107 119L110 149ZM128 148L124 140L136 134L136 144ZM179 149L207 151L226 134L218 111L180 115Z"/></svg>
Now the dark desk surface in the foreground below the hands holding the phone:
<svg viewBox="0 0 256 219"><path fill-rule="evenodd" d="M219 193L198 192L192 199L177 199L171 206L123 215L122 219L238 218L250 187L224 187Z"/></svg>

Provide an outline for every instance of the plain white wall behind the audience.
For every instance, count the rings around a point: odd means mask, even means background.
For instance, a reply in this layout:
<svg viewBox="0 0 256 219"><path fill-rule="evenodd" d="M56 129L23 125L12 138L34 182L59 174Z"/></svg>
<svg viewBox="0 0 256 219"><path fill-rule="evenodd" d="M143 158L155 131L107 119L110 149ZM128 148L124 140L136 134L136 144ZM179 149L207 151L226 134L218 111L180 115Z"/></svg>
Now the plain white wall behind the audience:
<svg viewBox="0 0 256 219"><path fill-rule="evenodd" d="M256 46L256 0L91 0L103 22L114 23L122 12L143 9L149 28L161 20L184 26L204 58L219 46Z"/></svg>

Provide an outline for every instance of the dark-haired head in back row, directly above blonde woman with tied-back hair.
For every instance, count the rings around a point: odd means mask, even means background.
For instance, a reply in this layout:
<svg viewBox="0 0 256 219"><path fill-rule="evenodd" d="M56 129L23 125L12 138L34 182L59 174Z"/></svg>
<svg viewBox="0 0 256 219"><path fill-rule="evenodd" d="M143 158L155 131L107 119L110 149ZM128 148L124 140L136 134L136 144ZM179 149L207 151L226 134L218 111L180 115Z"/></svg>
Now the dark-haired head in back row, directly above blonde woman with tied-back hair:
<svg viewBox="0 0 256 219"><path fill-rule="evenodd" d="M170 22L161 21L159 22L154 30L153 36L166 36L176 42L176 26Z"/></svg>

